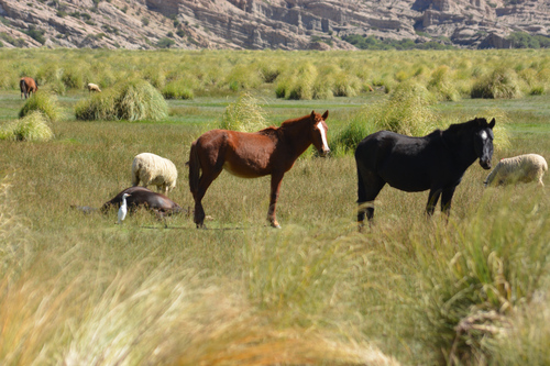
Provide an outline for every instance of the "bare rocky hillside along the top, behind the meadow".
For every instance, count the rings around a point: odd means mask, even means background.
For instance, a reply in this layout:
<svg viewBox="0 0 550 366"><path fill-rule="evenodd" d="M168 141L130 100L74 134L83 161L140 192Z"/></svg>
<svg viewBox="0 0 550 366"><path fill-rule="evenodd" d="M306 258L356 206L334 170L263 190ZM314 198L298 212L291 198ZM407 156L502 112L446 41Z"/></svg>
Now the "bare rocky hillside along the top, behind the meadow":
<svg viewBox="0 0 550 366"><path fill-rule="evenodd" d="M548 0L0 0L3 47L353 49L346 35L510 47Z"/></svg>

